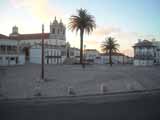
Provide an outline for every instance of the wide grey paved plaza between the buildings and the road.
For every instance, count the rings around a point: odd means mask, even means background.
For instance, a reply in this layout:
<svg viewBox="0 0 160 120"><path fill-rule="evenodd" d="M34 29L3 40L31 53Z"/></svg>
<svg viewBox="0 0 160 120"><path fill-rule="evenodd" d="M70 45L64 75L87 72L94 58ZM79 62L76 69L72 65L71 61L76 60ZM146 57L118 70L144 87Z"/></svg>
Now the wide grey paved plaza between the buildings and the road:
<svg viewBox="0 0 160 120"><path fill-rule="evenodd" d="M0 67L0 90L6 98L100 94L160 88L160 66L135 67L132 65L45 65L46 81L41 81L41 65Z"/></svg>

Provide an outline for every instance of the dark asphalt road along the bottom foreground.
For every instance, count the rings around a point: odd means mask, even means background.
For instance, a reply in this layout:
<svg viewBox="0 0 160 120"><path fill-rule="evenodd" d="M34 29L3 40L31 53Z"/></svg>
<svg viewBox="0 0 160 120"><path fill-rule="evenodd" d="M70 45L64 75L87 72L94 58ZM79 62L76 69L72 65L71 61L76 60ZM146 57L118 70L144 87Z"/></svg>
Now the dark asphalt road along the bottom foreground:
<svg viewBox="0 0 160 120"><path fill-rule="evenodd" d="M0 120L160 120L160 91L1 101Z"/></svg>

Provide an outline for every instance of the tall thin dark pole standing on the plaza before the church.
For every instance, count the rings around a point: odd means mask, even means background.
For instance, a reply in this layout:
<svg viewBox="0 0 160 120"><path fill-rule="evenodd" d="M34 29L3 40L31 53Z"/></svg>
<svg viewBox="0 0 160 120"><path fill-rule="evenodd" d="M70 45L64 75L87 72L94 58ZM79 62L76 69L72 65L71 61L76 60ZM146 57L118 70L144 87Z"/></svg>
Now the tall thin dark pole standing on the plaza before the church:
<svg viewBox="0 0 160 120"><path fill-rule="evenodd" d="M41 73L41 78L42 78L42 80L44 80L44 24L42 24L42 56L41 56L41 58L42 58L42 63L41 63L41 65L42 65L42 73Z"/></svg>

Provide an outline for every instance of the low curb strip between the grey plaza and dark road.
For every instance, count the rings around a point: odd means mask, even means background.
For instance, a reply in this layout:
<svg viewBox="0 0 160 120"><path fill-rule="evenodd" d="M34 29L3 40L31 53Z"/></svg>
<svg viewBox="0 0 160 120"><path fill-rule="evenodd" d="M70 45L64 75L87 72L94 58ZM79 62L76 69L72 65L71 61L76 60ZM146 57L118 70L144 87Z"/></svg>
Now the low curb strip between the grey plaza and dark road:
<svg viewBox="0 0 160 120"><path fill-rule="evenodd" d="M71 96L59 96L59 97L32 97L32 98L18 98L18 99L9 99L4 98L0 99L0 103L46 103L46 101L53 103L89 103L91 101L100 101L100 102L109 102L109 101L117 101L117 100L128 100L128 99L136 99L134 95L138 97L144 97L149 95L160 95L160 89L152 89L152 90L136 90L136 91L127 91L127 92L112 92L112 93L104 93L104 94L90 94L90 95L71 95ZM127 97L124 97L127 96ZM120 99L117 99L117 98ZM103 98L103 99L102 99ZM107 98L107 99L104 99ZM116 99L115 99L116 98Z"/></svg>

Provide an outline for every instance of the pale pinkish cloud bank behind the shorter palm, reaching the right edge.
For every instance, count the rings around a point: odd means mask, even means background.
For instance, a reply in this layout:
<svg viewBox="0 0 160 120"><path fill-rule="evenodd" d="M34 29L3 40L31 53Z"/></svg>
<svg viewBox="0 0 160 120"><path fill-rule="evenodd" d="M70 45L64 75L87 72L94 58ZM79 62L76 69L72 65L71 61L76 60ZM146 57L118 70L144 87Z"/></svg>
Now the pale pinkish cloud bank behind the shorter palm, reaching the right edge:
<svg viewBox="0 0 160 120"><path fill-rule="evenodd" d="M160 40L160 34L144 34L137 32L126 32L121 28L116 27L98 27L90 36L86 37L85 44L89 48L96 48L101 51L101 43L106 37L114 37L120 44L120 52L133 56L132 46L137 42L138 39Z"/></svg>

